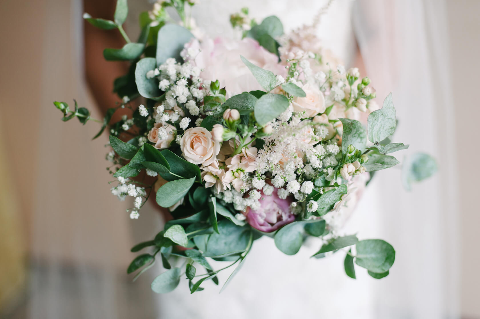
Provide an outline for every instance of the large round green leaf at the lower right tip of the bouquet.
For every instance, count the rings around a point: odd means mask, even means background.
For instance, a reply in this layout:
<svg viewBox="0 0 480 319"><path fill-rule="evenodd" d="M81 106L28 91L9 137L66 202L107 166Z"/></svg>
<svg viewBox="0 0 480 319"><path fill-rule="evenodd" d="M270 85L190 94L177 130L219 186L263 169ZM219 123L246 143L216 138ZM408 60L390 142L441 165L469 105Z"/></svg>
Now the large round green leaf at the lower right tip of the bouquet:
<svg viewBox="0 0 480 319"><path fill-rule="evenodd" d="M355 263L371 272L386 272L395 261L395 249L384 240L360 240L356 248Z"/></svg>

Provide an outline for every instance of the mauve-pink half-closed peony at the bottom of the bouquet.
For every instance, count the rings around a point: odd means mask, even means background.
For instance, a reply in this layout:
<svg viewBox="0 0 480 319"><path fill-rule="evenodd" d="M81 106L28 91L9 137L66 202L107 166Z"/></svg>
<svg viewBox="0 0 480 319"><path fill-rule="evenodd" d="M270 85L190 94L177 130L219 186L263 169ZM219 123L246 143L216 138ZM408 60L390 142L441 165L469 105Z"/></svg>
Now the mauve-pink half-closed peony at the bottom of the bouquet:
<svg viewBox="0 0 480 319"><path fill-rule="evenodd" d="M260 208L252 210L247 207L245 210L247 222L253 228L270 233L295 220L295 215L290 212L292 199L289 197L284 200L280 199L277 190L275 189L271 196L266 196L261 191Z"/></svg>

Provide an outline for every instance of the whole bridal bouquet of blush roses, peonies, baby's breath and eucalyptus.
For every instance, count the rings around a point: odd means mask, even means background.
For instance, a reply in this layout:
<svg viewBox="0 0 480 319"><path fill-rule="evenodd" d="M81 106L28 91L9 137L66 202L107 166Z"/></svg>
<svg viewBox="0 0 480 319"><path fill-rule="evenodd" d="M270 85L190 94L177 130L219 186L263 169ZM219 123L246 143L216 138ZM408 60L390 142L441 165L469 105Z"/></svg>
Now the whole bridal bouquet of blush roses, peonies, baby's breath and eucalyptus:
<svg viewBox="0 0 480 319"><path fill-rule="evenodd" d="M121 26L126 0L118 0L114 21L84 14L125 37L123 48L105 49L105 59L132 62L114 83L122 102L108 110L96 135L109 126L107 159L117 178L111 192L122 201L132 197L132 219L153 196L173 216L152 240L132 248L151 253L135 258L128 273L138 271L137 278L160 258L167 270L152 289L170 292L186 277L193 293L205 280L218 284L216 274L235 265L226 285L261 236L288 255L316 236L323 245L313 257L343 251L351 278L355 264L374 278L388 275L394 248L341 236L341 227L372 173L399 163L387 154L408 148L388 139L396 129L392 95L379 108L369 78L345 70L312 26L284 34L275 16L257 24L243 9L230 17L238 38L210 39L187 17L194 2L157 2L141 15L135 43ZM168 7L180 24L171 23ZM64 121L92 119L76 103L74 110L54 104ZM132 117L109 125L120 108L131 108ZM420 154L404 179L434 170ZM178 259L183 266L172 267ZM208 259L228 264L215 270Z"/></svg>

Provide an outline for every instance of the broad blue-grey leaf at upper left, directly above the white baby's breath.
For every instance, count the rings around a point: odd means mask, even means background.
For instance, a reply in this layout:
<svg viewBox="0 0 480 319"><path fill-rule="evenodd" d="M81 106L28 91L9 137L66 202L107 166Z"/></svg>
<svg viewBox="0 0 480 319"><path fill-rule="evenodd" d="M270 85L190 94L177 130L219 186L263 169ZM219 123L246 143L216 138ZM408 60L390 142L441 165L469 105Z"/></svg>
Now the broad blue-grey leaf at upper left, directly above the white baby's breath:
<svg viewBox="0 0 480 319"><path fill-rule="evenodd" d="M180 51L185 43L194 38L192 33L178 24L166 24L158 31L156 65L165 63L168 58L181 61Z"/></svg>

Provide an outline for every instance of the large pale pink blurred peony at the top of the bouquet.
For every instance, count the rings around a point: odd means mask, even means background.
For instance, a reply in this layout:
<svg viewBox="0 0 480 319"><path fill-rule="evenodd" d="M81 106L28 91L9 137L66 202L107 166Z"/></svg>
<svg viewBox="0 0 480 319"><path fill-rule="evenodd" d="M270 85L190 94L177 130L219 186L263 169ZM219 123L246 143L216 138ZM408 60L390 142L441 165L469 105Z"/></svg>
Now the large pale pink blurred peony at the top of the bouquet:
<svg viewBox="0 0 480 319"><path fill-rule="evenodd" d="M225 87L230 96L245 91L263 90L240 59L240 55L265 70L286 75L285 66L278 64L278 57L252 38L242 40L205 38L201 43L197 39L192 39L181 52L183 59L193 61L203 70L200 74L202 79L218 80L220 87Z"/></svg>

